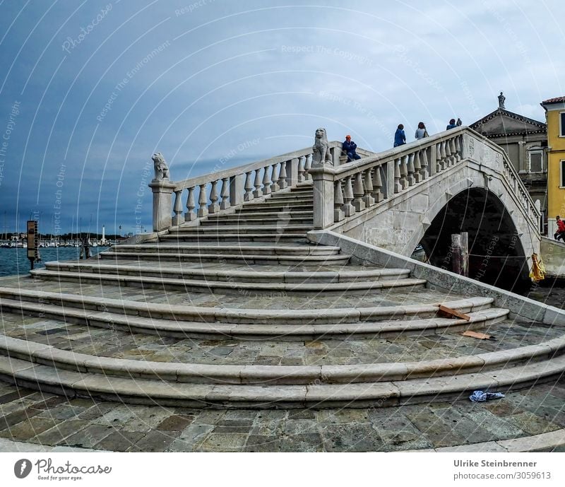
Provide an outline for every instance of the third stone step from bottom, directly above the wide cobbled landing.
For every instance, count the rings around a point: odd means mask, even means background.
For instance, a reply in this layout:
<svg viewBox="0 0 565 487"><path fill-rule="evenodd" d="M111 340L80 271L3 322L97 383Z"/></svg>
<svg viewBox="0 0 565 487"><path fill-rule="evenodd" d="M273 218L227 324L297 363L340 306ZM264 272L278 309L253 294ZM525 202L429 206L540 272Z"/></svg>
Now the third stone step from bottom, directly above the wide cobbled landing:
<svg viewBox="0 0 565 487"><path fill-rule="evenodd" d="M25 296L23 297L25 298ZM49 304L49 303L59 303ZM470 321L441 317L420 318L418 315L405 315L405 319L383 319L357 323L310 323L292 322L270 323L224 323L173 320L143 317L117 312L104 311L99 305L93 308L77 305L78 301L42 299L37 302L8 299L1 297L0 306L4 313L41 316L43 319L60 319L66 323L81 324L87 327L106 328L126 333L138 333L170 337L177 339L237 339L237 340L276 340L276 341L313 341L313 340L358 340L390 339L396 336L427 336L441 334L444 331L480 329L506 319L509 310L489 308L469 313ZM98 310L97 310L98 309ZM111 309L114 309L113 307ZM437 310L437 307L435 308ZM131 311L127 308L126 311ZM232 313L233 315L233 313ZM295 313L296 315L296 313ZM296 317L296 316L295 316ZM207 319L208 316L204 316ZM328 317L329 318L329 317ZM378 319L379 316L376 316ZM234 319L232 316L227 319Z"/></svg>

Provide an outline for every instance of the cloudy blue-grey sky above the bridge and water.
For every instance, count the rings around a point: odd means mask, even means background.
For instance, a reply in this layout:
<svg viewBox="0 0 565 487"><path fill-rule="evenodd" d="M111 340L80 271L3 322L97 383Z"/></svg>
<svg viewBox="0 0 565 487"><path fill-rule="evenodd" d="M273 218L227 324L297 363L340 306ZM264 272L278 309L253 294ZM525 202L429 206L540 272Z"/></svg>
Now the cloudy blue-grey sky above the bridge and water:
<svg viewBox="0 0 565 487"><path fill-rule="evenodd" d="M317 127L381 151L399 123L409 140L470 124L501 90L543 120L565 95L563 18L563 0L0 0L2 231L149 228L155 151L173 180Z"/></svg>

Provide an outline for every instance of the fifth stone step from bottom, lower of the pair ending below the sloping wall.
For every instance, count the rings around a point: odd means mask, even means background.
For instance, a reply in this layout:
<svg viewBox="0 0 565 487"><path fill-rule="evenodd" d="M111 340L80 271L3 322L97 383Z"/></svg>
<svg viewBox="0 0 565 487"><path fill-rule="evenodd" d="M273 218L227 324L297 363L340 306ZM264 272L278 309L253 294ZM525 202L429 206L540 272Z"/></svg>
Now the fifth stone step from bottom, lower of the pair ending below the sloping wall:
<svg viewBox="0 0 565 487"><path fill-rule="evenodd" d="M114 270L116 274L98 273L96 270ZM271 282L244 282L235 279L231 281L209 281L189 278L174 278L167 274L153 277L145 274L132 275L122 273L120 267L91 268L91 271L59 271L50 269L35 269L30 274L36 278L52 281L80 281L81 283L101 283L110 286L135 286L151 289L171 289L194 293L287 293L304 295L309 293L323 293L324 295L340 295L343 293L368 293L391 292L395 290L414 290L424 288L425 279L406 278L381 279L379 281L355 281L338 283L271 283Z"/></svg>

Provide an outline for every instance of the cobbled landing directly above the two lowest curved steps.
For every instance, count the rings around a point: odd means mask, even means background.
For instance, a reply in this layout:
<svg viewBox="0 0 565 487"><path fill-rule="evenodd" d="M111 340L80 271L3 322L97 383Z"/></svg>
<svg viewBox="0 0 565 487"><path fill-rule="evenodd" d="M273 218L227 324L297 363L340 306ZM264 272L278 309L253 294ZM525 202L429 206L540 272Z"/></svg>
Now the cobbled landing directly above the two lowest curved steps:
<svg viewBox="0 0 565 487"><path fill-rule="evenodd" d="M226 365L341 365L411 362L475 355L518 348L561 336L563 329L512 320L483 331L495 341L461 336L461 331L390 339L335 339L316 341L242 341L176 339L97 329L63 321L4 313L0 333L48 344L62 350L95 356L180 363Z"/></svg>

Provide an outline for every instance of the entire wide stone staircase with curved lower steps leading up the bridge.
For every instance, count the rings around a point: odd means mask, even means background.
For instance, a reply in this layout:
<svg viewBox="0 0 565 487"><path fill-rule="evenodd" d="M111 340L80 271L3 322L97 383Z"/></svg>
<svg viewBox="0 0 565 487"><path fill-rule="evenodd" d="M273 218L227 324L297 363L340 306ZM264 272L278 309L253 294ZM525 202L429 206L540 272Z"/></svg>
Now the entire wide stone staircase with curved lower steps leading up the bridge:
<svg viewBox="0 0 565 487"><path fill-rule="evenodd" d="M4 278L0 378L132 404L324 408L452 401L561 375L559 327L311 244L312 201L303 183L153 242Z"/></svg>

